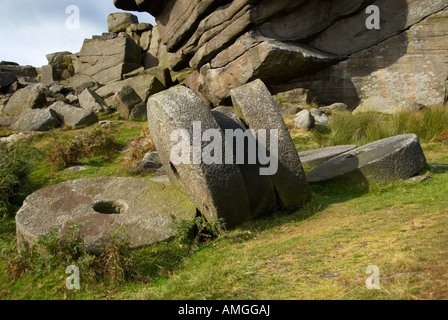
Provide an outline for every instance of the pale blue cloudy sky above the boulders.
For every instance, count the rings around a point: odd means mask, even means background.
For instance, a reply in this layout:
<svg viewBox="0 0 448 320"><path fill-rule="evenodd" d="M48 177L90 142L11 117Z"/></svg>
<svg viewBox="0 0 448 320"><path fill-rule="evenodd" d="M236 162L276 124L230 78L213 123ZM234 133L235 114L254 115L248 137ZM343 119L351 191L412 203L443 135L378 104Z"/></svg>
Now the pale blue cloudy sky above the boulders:
<svg viewBox="0 0 448 320"><path fill-rule="evenodd" d="M66 27L70 5L79 8L78 30ZM79 52L85 38L107 32L107 16L119 11L113 0L0 0L0 61L41 67L48 53ZM155 24L148 13L133 14Z"/></svg>

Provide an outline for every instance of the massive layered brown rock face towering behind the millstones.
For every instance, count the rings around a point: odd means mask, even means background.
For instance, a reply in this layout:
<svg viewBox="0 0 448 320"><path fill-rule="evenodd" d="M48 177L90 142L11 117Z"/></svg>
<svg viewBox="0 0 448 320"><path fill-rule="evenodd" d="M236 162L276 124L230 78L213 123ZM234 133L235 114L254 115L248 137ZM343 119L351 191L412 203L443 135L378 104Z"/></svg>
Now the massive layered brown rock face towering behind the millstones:
<svg viewBox="0 0 448 320"><path fill-rule="evenodd" d="M187 83L214 105L257 78L273 93L311 89L321 103L351 109L369 96L443 102L448 0L114 3L156 17L158 45L149 60L197 70ZM379 9L379 29L368 28L371 5Z"/></svg>

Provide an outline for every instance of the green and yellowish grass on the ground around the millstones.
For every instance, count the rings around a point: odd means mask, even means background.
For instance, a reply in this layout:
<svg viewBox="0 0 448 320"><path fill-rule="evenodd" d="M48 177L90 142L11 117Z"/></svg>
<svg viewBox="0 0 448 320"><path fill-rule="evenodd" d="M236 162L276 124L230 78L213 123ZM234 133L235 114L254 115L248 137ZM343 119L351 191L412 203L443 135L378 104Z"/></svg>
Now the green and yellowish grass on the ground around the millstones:
<svg viewBox="0 0 448 320"><path fill-rule="evenodd" d="M339 141L361 145L386 133L422 130L417 134L428 162L448 163L448 120L438 124L446 112L431 112L396 117L334 113L326 132L294 129L290 118L286 123L298 150ZM420 128L425 123L437 129ZM338 132L343 126L358 135ZM118 140L130 143L142 136L143 128L123 121ZM44 148L50 139L44 134L29 143ZM88 167L85 171L54 173L44 162L30 180L38 188L126 174L124 161L121 152L107 160L87 157L79 162ZM78 291L65 288L70 259L40 271L20 264L14 219L9 217L0 221L0 299L447 299L448 172L425 172L432 180L418 184L312 186L312 201L293 214L277 212L195 243L171 239L129 251L132 272L125 281L82 278L91 272L82 269ZM16 199L16 209L25 195ZM186 234L194 224L179 228ZM365 285L366 268L372 265L380 270L379 290Z"/></svg>

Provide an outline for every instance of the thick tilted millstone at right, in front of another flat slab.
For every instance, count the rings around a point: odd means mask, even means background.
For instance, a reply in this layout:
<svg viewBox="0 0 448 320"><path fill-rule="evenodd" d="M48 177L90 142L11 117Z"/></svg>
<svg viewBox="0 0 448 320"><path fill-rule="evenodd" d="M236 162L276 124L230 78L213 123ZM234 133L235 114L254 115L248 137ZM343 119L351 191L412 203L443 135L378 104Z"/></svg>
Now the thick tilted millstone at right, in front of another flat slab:
<svg viewBox="0 0 448 320"><path fill-rule="evenodd" d="M356 148L311 170L310 183L391 182L408 179L426 164L415 134L399 135Z"/></svg>

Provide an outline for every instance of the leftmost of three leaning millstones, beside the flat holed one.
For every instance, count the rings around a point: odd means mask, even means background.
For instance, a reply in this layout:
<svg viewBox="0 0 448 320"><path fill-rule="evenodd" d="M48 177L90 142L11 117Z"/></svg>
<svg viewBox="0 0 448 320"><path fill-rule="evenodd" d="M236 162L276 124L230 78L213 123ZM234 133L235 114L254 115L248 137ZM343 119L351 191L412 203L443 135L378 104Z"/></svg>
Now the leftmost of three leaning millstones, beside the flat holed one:
<svg viewBox="0 0 448 320"><path fill-rule="evenodd" d="M238 166L226 165L224 152L219 156L221 163L194 161L198 160L194 151L198 147L205 150L210 144L202 138L207 130L220 133L214 144L225 145L224 133L202 100L190 89L177 86L153 95L147 111L149 130L170 180L185 190L208 220L222 218L227 226L246 220L250 216L249 198ZM173 133L183 135L171 141ZM189 161L173 163L171 152L180 140L186 140Z"/></svg>

